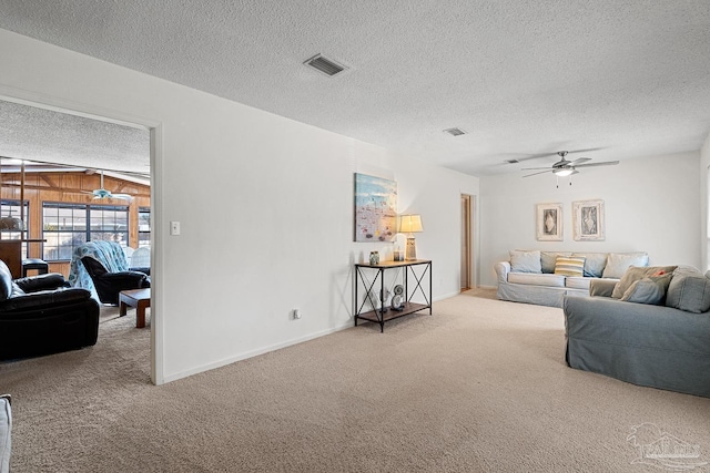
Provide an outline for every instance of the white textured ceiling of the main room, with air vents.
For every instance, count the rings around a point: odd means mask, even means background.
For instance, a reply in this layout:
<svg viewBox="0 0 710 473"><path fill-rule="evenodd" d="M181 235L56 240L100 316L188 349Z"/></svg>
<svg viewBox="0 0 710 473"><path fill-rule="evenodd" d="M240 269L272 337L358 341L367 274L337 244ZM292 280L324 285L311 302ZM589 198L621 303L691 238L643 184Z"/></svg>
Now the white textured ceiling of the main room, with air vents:
<svg viewBox="0 0 710 473"><path fill-rule="evenodd" d="M475 175L710 133L708 0L0 0L0 28Z"/></svg>

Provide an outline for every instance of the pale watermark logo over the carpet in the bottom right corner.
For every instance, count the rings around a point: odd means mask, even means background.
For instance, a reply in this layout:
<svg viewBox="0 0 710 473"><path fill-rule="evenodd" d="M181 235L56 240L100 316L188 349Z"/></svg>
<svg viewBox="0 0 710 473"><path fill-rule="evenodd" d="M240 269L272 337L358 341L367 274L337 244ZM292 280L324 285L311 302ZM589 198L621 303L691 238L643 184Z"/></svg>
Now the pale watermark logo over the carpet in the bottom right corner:
<svg viewBox="0 0 710 473"><path fill-rule="evenodd" d="M642 423L631 428L626 438L637 450L638 457L631 464L645 464L668 471L688 471L706 466L700 446L661 431L656 424Z"/></svg>

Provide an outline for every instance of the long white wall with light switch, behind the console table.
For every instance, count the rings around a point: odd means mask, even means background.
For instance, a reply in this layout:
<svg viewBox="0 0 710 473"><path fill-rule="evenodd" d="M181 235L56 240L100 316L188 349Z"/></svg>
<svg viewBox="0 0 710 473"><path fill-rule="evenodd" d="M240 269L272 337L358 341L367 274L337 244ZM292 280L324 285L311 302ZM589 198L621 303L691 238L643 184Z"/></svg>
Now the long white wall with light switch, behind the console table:
<svg viewBox="0 0 710 473"><path fill-rule="evenodd" d="M355 172L397 181L434 298L458 292L459 196L477 178L3 30L0 63L6 97L155 126L156 382L352 325L353 263L392 248L353 243Z"/></svg>

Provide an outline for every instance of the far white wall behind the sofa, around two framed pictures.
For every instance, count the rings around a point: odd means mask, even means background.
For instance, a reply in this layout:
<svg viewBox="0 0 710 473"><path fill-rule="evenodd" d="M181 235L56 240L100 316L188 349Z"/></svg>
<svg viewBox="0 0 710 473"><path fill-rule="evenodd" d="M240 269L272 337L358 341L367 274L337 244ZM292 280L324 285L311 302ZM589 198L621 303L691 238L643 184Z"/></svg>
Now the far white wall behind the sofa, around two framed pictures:
<svg viewBox="0 0 710 473"><path fill-rule="evenodd" d="M481 285L496 286L494 264L510 249L648 251L650 263L700 267L700 153L625 160L559 179L524 173L480 179ZM540 164L541 166L542 164ZM572 239L572 202L605 202L606 239ZM536 204L561 203L562 241L537 241Z"/></svg>

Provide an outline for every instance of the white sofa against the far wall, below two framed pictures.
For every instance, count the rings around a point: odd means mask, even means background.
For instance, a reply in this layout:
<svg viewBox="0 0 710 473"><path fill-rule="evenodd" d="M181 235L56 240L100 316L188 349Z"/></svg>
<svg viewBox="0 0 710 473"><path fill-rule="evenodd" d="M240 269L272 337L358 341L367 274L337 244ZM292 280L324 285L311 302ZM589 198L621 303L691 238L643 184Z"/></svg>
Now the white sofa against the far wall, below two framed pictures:
<svg viewBox="0 0 710 473"><path fill-rule="evenodd" d="M558 256L584 258L581 276L555 274ZM648 266L648 254L511 250L495 265L498 299L562 307L564 296L589 296L592 279L618 281L630 266Z"/></svg>

